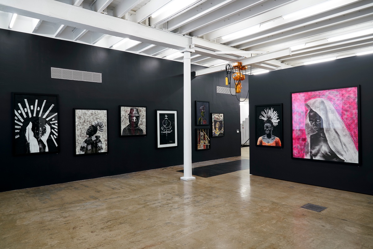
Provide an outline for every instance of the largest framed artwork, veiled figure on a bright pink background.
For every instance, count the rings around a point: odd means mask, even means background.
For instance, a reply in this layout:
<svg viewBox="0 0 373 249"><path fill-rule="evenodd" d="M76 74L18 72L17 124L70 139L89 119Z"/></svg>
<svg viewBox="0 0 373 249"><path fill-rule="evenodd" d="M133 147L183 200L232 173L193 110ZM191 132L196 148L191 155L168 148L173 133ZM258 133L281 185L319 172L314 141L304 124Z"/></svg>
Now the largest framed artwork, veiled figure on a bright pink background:
<svg viewBox="0 0 373 249"><path fill-rule="evenodd" d="M359 90L291 93L292 158L359 164Z"/></svg>

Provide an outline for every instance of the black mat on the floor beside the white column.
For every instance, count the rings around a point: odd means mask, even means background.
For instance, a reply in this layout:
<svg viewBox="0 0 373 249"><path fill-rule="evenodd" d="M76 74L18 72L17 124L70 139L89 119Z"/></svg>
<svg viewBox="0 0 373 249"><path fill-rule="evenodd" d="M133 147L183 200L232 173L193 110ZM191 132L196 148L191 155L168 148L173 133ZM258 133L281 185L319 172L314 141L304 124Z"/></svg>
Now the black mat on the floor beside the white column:
<svg viewBox="0 0 373 249"><path fill-rule="evenodd" d="M221 164L207 165L197 168L192 168L192 175L200 177L212 177L216 175L227 174L242 169L250 168L250 160L242 159L232 162L223 162ZM184 172L184 170L178 170L178 172Z"/></svg>

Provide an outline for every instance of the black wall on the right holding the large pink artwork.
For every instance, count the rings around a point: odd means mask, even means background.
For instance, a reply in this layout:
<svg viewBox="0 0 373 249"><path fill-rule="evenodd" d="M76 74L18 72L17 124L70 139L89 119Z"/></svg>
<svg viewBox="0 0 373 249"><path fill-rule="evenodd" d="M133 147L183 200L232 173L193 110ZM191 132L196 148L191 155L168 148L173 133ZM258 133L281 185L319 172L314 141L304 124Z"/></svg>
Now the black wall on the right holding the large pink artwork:
<svg viewBox="0 0 373 249"><path fill-rule="evenodd" d="M250 173L333 189L373 194L373 55L353 56L248 77L250 114L255 105L283 104L283 149L257 147L250 121ZM291 92L360 85L359 166L292 159Z"/></svg>

